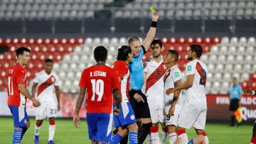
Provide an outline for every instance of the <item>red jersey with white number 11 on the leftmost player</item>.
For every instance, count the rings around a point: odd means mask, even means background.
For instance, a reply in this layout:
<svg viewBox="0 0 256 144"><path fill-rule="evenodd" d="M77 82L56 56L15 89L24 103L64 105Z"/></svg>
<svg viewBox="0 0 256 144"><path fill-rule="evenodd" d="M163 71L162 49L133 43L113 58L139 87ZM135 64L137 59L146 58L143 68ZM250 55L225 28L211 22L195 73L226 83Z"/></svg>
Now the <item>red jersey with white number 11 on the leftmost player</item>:
<svg viewBox="0 0 256 144"><path fill-rule="evenodd" d="M9 106L25 106L26 97L18 91L18 84L28 84L26 70L19 63L11 65L7 71L7 93Z"/></svg>

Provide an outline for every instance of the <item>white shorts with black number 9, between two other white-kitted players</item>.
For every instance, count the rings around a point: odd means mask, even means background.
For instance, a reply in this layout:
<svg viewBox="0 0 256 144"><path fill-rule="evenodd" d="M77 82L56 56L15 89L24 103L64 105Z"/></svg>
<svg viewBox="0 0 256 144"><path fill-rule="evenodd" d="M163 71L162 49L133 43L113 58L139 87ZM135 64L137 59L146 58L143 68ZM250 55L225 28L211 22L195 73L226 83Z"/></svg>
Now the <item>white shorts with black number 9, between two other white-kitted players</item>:
<svg viewBox="0 0 256 144"><path fill-rule="evenodd" d="M165 106L164 108L166 126L169 126L169 125L178 126L178 117L180 115L182 105L179 103L176 103L175 109L174 109L174 116L167 116L170 108L171 108L171 105Z"/></svg>

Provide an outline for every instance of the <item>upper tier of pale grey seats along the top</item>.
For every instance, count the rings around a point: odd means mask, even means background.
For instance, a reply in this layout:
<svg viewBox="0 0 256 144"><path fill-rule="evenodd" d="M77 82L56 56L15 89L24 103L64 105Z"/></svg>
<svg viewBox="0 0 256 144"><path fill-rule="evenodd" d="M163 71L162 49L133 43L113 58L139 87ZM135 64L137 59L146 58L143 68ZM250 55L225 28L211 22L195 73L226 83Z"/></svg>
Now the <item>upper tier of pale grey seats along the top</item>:
<svg viewBox="0 0 256 144"><path fill-rule="evenodd" d="M106 9L105 4L114 0L3 0L0 6L1 18L94 18L95 11ZM161 18L176 19L255 19L255 1L225 0L225 1L153 1L135 0L125 4L124 9L119 9L114 16L116 18L148 17L149 6L159 10Z"/></svg>

